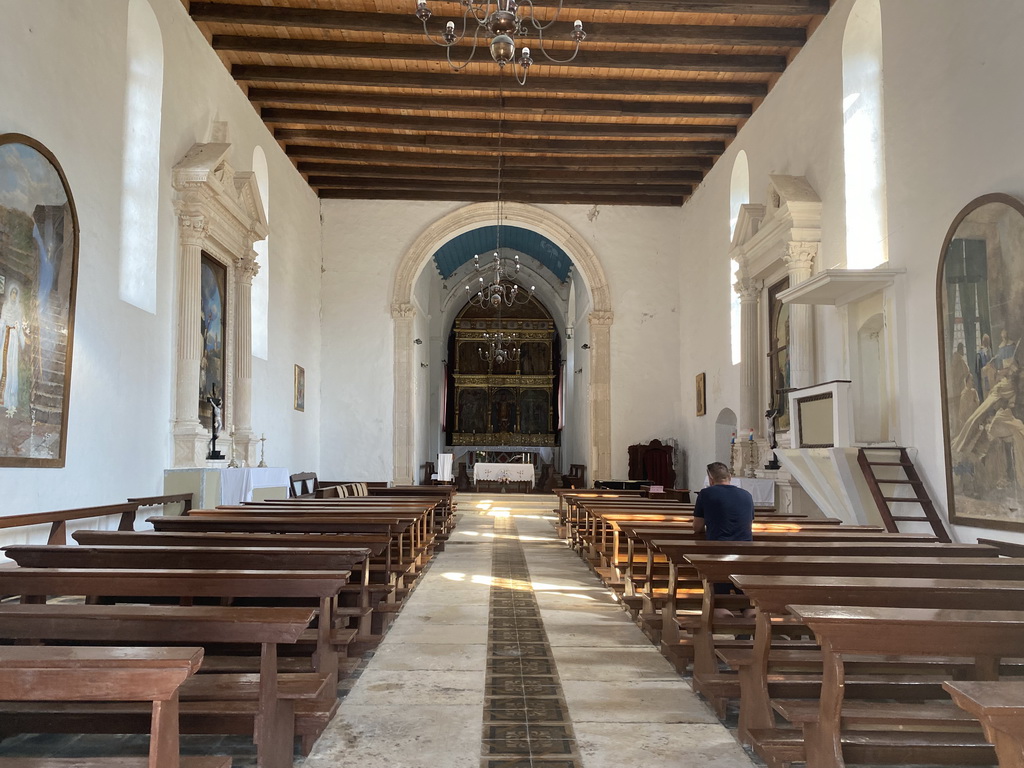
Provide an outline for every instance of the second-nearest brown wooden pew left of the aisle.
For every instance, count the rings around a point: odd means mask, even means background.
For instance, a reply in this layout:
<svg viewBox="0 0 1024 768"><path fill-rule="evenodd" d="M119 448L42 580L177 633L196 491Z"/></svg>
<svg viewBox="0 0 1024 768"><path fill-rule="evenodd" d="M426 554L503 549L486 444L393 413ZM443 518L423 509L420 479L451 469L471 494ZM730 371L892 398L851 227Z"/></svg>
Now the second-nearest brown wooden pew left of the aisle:
<svg viewBox="0 0 1024 768"><path fill-rule="evenodd" d="M0 605L0 638L13 641L132 642L161 645L173 637L207 648L219 643L260 646L258 675L200 674L179 688L183 732L251 734L261 768L289 768L296 702L319 701L323 674L278 672L278 646L296 642L312 620L307 608L147 605ZM207 651L209 658L209 651ZM334 693L333 689L330 692ZM337 701L333 701L334 714ZM323 728L321 705L303 717ZM142 733L144 707L69 703L0 705L0 737L15 733ZM308 727L308 726L307 726Z"/></svg>

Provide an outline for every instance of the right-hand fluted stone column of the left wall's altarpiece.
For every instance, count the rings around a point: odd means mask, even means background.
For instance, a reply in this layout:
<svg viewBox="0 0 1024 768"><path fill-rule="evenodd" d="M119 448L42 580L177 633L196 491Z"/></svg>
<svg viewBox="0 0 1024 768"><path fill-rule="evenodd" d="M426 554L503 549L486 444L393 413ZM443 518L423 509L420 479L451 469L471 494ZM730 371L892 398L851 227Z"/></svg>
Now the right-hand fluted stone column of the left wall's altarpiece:
<svg viewBox="0 0 1024 768"><path fill-rule="evenodd" d="M252 293L253 278L259 272L256 252L240 256L236 262L234 311L234 408L230 429L234 440L236 459L243 466L254 466L256 440L252 430L253 339Z"/></svg>

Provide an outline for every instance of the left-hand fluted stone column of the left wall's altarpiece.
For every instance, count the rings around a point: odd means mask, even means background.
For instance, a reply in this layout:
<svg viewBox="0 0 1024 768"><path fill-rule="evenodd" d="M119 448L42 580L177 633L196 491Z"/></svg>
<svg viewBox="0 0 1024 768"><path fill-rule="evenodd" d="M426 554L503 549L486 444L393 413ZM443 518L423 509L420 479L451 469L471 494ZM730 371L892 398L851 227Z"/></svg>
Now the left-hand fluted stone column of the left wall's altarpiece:
<svg viewBox="0 0 1024 768"><path fill-rule="evenodd" d="M199 422L200 359L203 336L200 327L201 264L203 243L209 233L206 217L178 215L178 339L177 384L174 392L174 466L197 467L205 461L209 435Z"/></svg>

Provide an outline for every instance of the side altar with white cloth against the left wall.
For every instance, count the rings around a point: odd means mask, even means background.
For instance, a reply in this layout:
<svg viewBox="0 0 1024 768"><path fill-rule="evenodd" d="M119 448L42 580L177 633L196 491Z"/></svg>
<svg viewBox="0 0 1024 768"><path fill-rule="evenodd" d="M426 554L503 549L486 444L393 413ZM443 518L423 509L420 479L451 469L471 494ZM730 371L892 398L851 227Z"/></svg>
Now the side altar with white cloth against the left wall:
<svg viewBox="0 0 1024 768"><path fill-rule="evenodd" d="M164 470L165 494L191 494L196 509L288 498L287 467L185 467Z"/></svg>

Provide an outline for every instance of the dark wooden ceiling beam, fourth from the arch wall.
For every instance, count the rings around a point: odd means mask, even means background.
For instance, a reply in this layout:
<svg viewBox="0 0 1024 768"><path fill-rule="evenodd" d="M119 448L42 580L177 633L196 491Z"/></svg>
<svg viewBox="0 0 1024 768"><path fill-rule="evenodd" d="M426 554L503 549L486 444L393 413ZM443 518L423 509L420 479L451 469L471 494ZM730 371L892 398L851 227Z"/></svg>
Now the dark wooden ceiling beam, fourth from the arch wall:
<svg viewBox="0 0 1024 768"><path fill-rule="evenodd" d="M286 144L285 154L296 160L356 162L384 166L424 166L432 168L488 168L498 170L495 153L474 155L471 153L433 152L384 152L382 150L349 150L337 146L316 146L309 144ZM566 157L545 157L523 155L515 158L517 168L557 168L565 172L590 170L592 168L616 169L621 171L645 169L689 169L707 170L714 158L707 156L612 156L578 155Z"/></svg>

